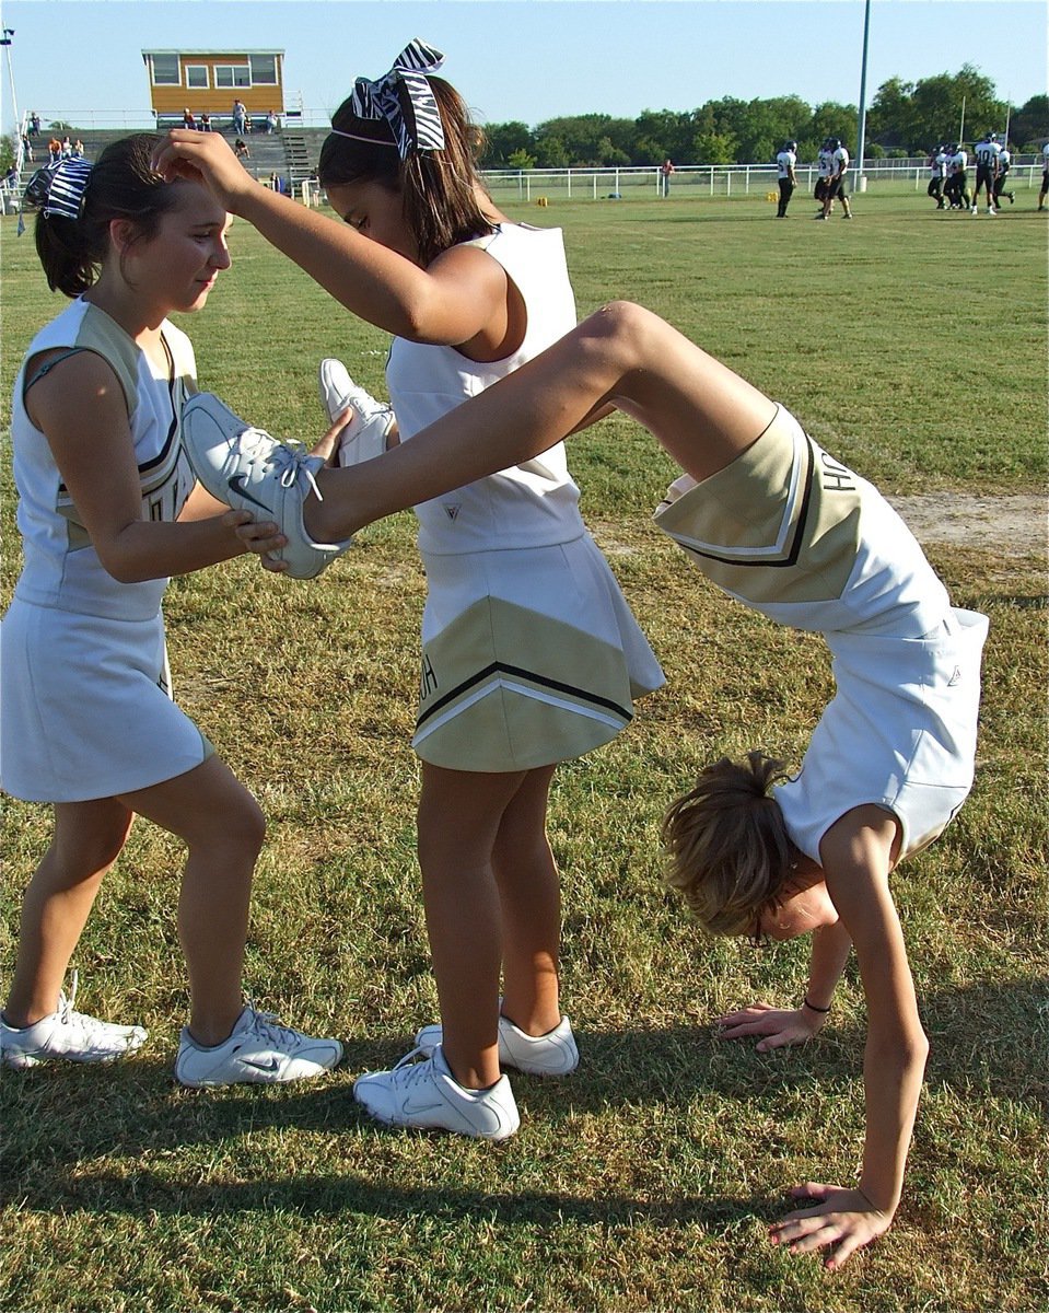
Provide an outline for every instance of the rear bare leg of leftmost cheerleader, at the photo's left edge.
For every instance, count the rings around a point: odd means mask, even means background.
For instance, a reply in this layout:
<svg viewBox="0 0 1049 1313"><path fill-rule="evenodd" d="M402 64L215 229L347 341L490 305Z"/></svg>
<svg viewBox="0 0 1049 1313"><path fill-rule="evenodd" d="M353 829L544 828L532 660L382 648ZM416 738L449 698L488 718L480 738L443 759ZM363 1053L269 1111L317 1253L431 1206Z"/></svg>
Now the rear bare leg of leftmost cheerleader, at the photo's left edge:
<svg viewBox="0 0 1049 1313"><path fill-rule="evenodd" d="M59 802L54 813L51 844L22 902L18 956L4 1008L9 1025L32 1025L54 1012L95 895L134 821L116 798Z"/></svg>

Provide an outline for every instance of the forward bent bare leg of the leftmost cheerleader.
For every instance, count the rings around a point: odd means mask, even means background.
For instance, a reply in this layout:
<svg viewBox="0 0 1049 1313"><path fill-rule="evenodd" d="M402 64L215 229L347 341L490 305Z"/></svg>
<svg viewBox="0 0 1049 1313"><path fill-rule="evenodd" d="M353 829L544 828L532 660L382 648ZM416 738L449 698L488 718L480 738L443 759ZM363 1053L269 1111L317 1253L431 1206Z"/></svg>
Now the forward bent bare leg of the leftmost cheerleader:
<svg viewBox="0 0 1049 1313"><path fill-rule="evenodd" d="M255 798L219 758L122 800L189 847L179 898L179 939L189 969L189 1029L221 1044L243 1008L240 973L251 877L265 836Z"/></svg>

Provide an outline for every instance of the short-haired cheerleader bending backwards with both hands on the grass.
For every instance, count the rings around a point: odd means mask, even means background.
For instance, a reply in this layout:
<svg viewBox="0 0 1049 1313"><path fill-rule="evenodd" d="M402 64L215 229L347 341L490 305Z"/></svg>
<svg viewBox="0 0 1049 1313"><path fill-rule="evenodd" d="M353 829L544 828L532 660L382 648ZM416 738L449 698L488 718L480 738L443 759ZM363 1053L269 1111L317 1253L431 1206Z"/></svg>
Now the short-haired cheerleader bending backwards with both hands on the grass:
<svg viewBox="0 0 1049 1313"><path fill-rule="evenodd" d="M629 303L605 306L411 442L352 470L323 469L206 395L189 402L185 425L205 483L249 479L252 499L302 544L352 534L496 463L537 460L610 404L684 471L659 527L730 596L822 633L834 658L836 693L798 773L760 752L716 762L671 806L663 836L670 882L708 931L811 936L797 1006L723 1016L727 1039L754 1037L761 1050L811 1039L855 948L868 1012L863 1166L855 1184L797 1186L801 1207L772 1228L775 1242L823 1250L827 1267L840 1267L899 1205L928 1044L889 877L936 838L973 783L986 616L951 605L877 488L781 406ZM264 540L255 548L269 550Z"/></svg>

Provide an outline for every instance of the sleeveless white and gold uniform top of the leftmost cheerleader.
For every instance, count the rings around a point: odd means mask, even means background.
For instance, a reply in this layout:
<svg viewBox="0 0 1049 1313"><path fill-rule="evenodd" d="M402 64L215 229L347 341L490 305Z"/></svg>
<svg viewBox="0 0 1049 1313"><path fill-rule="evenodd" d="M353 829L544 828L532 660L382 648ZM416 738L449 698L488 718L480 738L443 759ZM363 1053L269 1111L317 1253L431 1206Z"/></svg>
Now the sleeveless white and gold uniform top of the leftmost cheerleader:
<svg viewBox="0 0 1049 1313"><path fill-rule="evenodd" d="M196 390L196 361L180 328L165 320L161 334L171 377L158 377L146 353L119 324L83 298L30 343L14 382L11 429L17 524L25 555L14 595L22 601L110 620L150 620L158 614L168 580L118 583L105 570L80 524L47 439L26 412L22 389L26 365L41 352L85 348L101 356L117 376L127 403L143 519L176 520L196 482L180 436L182 402Z"/></svg>

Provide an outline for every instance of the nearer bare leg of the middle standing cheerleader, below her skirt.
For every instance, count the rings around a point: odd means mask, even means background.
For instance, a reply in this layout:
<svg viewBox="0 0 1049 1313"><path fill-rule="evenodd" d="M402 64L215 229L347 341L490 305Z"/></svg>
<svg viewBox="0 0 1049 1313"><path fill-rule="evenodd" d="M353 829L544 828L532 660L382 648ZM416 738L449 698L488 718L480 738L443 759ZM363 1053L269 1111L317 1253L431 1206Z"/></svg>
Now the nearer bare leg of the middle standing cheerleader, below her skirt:
<svg viewBox="0 0 1049 1313"><path fill-rule="evenodd" d="M423 763L419 864L441 1002L442 1048L454 1078L483 1090L499 1079L502 914L492 869L499 827L524 772L484 775Z"/></svg>

